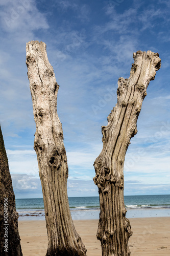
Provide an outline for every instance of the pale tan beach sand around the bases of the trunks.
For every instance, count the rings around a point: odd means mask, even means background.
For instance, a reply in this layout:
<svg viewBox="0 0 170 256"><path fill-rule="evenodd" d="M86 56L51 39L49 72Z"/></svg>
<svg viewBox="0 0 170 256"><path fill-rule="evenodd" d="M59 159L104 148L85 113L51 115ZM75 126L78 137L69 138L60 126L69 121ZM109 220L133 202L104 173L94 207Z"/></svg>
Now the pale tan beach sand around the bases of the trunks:
<svg viewBox="0 0 170 256"><path fill-rule="evenodd" d="M133 256L170 255L170 218L130 219L133 236L129 240ZM98 220L74 221L77 232L87 248L88 256L101 256L101 244L96 239ZM44 256L47 248L45 221L18 221L23 256Z"/></svg>

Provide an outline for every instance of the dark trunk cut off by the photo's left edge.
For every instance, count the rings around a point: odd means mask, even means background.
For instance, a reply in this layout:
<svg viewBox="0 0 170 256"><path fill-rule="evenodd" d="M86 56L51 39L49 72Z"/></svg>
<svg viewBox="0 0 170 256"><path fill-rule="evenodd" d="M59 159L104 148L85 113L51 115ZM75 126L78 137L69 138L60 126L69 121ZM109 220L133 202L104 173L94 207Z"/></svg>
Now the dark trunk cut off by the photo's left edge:
<svg viewBox="0 0 170 256"><path fill-rule="evenodd" d="M18 212L0 125L0 255L22 256Z"/></svg>

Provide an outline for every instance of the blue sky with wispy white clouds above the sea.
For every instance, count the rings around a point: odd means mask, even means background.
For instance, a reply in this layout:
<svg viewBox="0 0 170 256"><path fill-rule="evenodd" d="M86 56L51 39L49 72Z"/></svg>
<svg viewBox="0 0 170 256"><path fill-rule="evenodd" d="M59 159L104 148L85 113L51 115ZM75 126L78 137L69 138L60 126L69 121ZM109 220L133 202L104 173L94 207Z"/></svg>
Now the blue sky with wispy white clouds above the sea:
<svg viewBox="0 0 170 256"><path fill-rule="evenodd" d="M1 0L0 123L16 198L42 197L26 43L43 41L60 85L68 197L98 196L93 162L101 126L128 78L133 53L158 52L161 68L147 90L125 166L125 195L170 193L170 2L168 0Z"/></svg>

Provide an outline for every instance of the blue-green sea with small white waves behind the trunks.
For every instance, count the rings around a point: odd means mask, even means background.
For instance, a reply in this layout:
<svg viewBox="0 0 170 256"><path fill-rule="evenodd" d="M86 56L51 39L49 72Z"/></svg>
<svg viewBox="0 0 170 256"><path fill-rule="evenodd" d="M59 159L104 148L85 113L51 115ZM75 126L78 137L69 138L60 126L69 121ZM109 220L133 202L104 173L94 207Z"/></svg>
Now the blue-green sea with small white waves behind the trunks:
<svg viewBox="0 0 170 256"><path fill-rule="evenodd" d="M69 197L73 220L99 219L99 197ZM124 196L127 218L170 217L170 195ZM19 220L45 220L43 198L16 199Z"/></svg>

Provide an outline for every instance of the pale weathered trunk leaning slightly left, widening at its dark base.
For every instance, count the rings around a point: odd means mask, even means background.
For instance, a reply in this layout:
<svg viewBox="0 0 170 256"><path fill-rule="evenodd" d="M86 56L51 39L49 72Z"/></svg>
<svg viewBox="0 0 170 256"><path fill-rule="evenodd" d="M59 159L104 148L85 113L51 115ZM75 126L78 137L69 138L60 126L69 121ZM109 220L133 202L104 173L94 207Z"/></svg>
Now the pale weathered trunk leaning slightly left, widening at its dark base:
<svg viewBox="0 0 170 256"><path fill-rule="evenodd" d="M71 219L68 197L68 165L62 125L57 115L54 70L44 42L27 43L27 67L33 101L37 153L48 236L47 255L85 255L86 249Z"/></svg>

